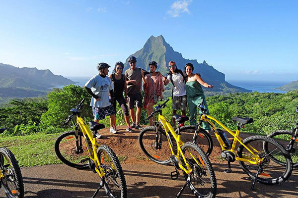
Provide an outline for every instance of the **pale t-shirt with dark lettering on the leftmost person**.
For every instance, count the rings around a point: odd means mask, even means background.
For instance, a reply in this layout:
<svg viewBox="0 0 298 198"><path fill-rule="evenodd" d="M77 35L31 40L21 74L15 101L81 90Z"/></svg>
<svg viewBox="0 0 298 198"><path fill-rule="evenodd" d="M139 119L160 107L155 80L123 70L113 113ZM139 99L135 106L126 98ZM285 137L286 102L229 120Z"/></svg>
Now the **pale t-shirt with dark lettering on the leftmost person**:
<svg viewBox="0 0 298 198"><path fill-rule="evenodd" d="M93 76L84 86L91 89L91 91L100 98L96 101L96 99L92 97L90 106L106 107L111 105L109 92L113 90L114 87L108 76L104 78L100 75Z"/></svg>

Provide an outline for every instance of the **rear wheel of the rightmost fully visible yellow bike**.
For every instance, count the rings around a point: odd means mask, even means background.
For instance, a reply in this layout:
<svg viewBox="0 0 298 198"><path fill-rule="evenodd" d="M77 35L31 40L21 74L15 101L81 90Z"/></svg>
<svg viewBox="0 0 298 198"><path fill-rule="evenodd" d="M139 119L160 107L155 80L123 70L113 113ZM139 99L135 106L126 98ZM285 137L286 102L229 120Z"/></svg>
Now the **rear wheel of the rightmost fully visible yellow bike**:
<svg viewBox="0 0 298 198"><path fill-rule="evenodd" d="M241 168L249 177L255 178L259 165L262 167L263 172L259 174L256 180L260 183L268 185L281 184L291 176L293 170L292 159L280 143L266 136L251 136L244 139L243 144L257 149L258 152L255 152L255 154L263 158L262 164L255 165L239 161ZM267 144L267 147L264 147L265 144ZM238 147L237 155L239 157L253 157L243 145ZM279 158L284 161L285 166L276 163L272 158Z"/></svg>

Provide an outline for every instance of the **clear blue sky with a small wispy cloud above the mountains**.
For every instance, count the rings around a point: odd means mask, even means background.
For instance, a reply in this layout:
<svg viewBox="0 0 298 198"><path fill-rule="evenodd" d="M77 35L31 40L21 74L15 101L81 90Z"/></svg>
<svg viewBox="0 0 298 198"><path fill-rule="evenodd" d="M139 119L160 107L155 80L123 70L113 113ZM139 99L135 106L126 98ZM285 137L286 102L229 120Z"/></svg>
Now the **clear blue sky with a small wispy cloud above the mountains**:
<svg viewBox="0 0 298 198"><path fill-rule="evenodd" d="M298 80L297 0L0 0L0 62L90 77L163 35L233 80Z"/></svg>

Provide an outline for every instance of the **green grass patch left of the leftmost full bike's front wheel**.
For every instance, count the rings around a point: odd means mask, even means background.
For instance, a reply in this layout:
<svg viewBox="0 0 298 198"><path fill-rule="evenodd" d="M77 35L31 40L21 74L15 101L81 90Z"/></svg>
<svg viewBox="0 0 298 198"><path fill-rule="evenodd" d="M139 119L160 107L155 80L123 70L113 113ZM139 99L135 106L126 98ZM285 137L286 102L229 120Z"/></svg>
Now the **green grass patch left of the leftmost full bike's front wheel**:
<svg viewBox="0 0 298 198"><path fill-rule="evenodd" d="M60 134L34 134L0 138L0 147L9 148L20 166L41 166L62 163L54 144Z"/></svg>

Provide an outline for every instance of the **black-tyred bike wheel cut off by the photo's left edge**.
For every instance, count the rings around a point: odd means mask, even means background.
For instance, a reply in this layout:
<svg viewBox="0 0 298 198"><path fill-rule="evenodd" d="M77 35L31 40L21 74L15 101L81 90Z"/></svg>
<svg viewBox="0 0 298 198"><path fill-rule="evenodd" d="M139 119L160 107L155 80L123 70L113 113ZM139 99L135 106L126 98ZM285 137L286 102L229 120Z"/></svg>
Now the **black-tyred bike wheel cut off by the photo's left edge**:
<svg viewBox="0 0 298 198"><path fill-rule="evenodd" d="M0 171L3 174L1 186L8 198L23 198L24 183L21 169L12 152L4 147L0 148Z"/></svg>

